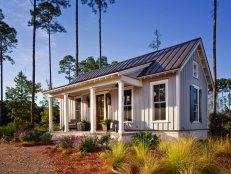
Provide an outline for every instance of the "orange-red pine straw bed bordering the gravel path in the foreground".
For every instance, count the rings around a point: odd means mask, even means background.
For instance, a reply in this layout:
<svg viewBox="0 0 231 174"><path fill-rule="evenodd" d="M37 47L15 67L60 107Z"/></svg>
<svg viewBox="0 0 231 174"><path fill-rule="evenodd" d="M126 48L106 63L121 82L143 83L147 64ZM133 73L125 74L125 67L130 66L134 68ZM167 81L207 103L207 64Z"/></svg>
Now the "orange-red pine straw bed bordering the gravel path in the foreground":
<svg viewBox="0 0 231 174"><path fill-rule="evenodd" d="M48 154L54 173L57 174L111 174L105 161L98 152L86 153L69 148L47 148L43 153Z"/></svg>

